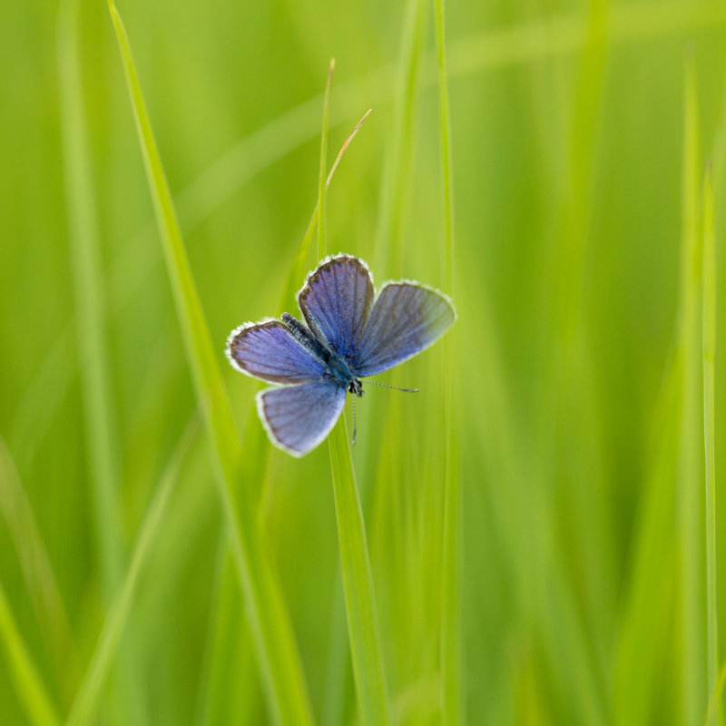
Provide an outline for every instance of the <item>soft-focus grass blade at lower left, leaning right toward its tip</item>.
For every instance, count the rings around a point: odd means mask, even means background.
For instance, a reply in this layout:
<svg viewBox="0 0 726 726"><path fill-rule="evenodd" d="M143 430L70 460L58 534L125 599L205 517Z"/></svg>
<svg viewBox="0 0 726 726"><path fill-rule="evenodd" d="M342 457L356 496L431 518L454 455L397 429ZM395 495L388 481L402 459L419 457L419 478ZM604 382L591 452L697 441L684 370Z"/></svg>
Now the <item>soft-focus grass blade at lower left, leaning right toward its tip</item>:
<svg viewBox="0 0 726 726"><path fill-rule="evenodd" d="M81 724L93 723L98 702L103 693L103 685L113 665L113 658L121 642L123 628L131 613L139 579L152 554L153 544L159 534L173 486L179 478L184 460L197 437L198 429L199 421L197 416L194 415L185 427L182 437L174 449L172 458L166 466L159 486L153 495L152 503L146 512L139 534L136 537L136 544L133 547L131 564L123 580L121 590L109 610L106 622L103 623L103 631L83 677L73 708L65 721L66 726L81 726Z"/></svg>

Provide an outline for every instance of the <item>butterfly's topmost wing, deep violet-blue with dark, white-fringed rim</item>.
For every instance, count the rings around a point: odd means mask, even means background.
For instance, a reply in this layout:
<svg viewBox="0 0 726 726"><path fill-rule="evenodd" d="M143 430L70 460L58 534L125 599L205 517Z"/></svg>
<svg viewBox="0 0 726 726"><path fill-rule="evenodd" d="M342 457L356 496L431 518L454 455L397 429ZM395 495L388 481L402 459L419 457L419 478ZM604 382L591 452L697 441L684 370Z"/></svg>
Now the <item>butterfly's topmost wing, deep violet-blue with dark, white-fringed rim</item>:
<svg viewBox="0 0 726 726"><path fill-rule="evenodd" d="M376 291L365 262L349 255L325 260L298 293L305 320L338 355L350 358L358 345Z"/></svg>

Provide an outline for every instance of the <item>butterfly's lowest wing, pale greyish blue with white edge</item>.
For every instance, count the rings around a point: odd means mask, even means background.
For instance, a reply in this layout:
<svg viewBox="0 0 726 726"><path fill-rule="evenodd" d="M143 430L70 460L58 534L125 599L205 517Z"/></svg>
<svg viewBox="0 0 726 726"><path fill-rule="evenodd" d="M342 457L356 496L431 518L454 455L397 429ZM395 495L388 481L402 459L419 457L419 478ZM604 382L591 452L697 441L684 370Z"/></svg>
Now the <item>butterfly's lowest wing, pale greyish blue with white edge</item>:
<svg viewBox="0 0 726 726"><path fill-rule="evenodd" d="M303 456L329 435L343 410L346 389L332 380L257 395L257 410L270 441L292 456Z"/></svg>

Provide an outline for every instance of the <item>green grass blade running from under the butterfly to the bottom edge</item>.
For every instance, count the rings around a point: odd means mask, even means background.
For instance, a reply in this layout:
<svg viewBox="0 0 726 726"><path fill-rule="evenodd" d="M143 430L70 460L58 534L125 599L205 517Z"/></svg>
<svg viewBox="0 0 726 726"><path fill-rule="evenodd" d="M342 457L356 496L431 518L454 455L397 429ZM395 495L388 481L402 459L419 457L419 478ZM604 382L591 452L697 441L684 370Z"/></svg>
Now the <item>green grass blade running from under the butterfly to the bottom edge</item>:
<svg viewBox="0 0 726 726"><path fill-rule="evenodd" d="M378 635L366 527L350 455L345 414L330 434L329 449L348 612L348 639L360 719L365 726L381 726L388 723L386 677Z"/></svg>

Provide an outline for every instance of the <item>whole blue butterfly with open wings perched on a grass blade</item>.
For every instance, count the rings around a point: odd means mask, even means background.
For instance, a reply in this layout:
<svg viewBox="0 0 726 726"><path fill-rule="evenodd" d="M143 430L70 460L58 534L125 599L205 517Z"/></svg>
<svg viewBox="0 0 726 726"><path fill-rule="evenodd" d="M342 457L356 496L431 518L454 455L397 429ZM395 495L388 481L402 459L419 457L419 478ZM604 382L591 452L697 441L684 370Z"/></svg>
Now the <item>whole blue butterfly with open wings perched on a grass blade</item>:
<svg viewBox="0 0 726 726"><path fill-rule="evenodd" d="M428 348L456 320L451 300L417 282L387 282L376 296L362 260L323 260L298 293L304 325L288 313L232 330L227 357L242 373L284 388L257 395L262 425L275 446L303 456L335 426L346 392L361 378Z"/></svg>

